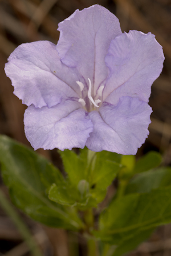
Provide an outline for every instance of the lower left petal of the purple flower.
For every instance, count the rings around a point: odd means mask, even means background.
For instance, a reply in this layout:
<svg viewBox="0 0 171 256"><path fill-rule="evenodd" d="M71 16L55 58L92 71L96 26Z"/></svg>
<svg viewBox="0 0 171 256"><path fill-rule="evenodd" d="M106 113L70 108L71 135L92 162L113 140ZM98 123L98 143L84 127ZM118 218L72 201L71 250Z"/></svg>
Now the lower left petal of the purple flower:
<svg viewBox="0 0 171 256"><path fill-rule="evenodd" d="M25 111L25 133L34 149L72 149L85 146L93 130L91 119L79 102L67 100L51 108L29 106Z"/></svg>

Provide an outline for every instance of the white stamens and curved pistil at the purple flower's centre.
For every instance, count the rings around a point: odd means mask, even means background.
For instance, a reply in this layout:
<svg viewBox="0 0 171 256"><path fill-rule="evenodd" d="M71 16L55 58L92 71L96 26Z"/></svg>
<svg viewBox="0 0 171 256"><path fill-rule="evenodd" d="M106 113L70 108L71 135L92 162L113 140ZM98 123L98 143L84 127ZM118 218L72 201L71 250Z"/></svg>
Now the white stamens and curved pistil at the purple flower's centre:
<svg viewBox="0 0 171 256"><path fill-rule="evenodd" d="M99 107L97 104L99 104L101 102L101 99L95 99L95 101L94 101L94 99L91 96L92 85L91 85L91 80L89 78L88 78L88 82L89 82L89 87L88 87L88 94L87 95L88 95L89 101L90 101L91 105L93 104L95 107ZM84 89L83 83L80 82L80 81L76 81L76 83L79 85L80 91L83 91L83 89ZM104 85L101 85L99 87L99 89L97 90L97 97L102 96L103 89L104 89ZM83 107L86 105L86 102L84 101L83 98L79 98L79 102L82 103Z"/></svg>

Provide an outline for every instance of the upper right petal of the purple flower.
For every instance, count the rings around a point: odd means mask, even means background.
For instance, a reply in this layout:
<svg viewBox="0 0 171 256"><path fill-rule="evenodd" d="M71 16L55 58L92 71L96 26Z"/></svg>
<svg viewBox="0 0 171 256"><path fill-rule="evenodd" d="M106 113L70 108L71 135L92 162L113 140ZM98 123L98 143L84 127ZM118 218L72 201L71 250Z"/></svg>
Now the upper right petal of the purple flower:
<svg viewBox="0 0 171 256"><path fill-rule="evenodd" d="M131 96L148 102L150 86L162 71L164 54L153 34L133 30L111 42L105 62L110 69L105 101L115 105L120 97Z"/></svg>

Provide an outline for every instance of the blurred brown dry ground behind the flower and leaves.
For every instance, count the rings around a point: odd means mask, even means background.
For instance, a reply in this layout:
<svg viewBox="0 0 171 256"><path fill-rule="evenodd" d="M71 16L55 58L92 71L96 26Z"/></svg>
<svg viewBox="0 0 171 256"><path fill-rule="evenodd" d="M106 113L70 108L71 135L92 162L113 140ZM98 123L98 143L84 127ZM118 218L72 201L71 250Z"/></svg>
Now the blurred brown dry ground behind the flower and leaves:
<svg viewBox="0 0 171 256"><path fill-rule="evenodd" d="M106 7L120 20L122 31L131 29L151 31L162 45L165 54L164 70L152 86L150 106L153 108L150 135L137 157L149 150L160 151L164 165L171 164L171 1L169 0L0 0L0 133L29 145L23 130L25 106L15 95L10 79L3 68L10 53L25 42L48 40L58 42L58 23L76 9L95 3ZM43 151L55 161L56 151ZM1 189L7 194L1 182ZM26 225L42 247L42 255L68 256L74 237L62 230L48 229L35 224L21 214ZM77 238L78 239L78 238ZM83 245L84 248L84 245ZM0 256L31 255L21 235L9 217L0 209ZM85 255L80 249L80 255ZM171 227L160 227L131 255L171 255ZM74 255L73 255L74 256ZM78 255L76 255L78 256Z"/></svg>

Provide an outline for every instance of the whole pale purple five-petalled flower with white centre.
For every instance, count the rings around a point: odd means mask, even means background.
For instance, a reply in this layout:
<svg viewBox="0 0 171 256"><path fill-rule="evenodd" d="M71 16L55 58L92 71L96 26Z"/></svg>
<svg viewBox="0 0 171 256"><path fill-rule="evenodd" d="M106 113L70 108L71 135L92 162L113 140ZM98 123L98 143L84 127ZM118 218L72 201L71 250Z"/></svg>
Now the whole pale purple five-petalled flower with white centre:
<svg viewBox="0 0 171 256"><path fill-rule="evenodd" d="M5 72L28 106L25 133L34 149L136 154L147 135L150 87L162 47L151 33L121 33L118 19L93 5L59 23L60 38L25 43Z"/></svg>

